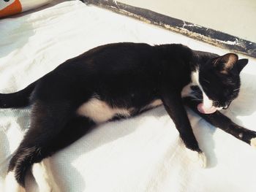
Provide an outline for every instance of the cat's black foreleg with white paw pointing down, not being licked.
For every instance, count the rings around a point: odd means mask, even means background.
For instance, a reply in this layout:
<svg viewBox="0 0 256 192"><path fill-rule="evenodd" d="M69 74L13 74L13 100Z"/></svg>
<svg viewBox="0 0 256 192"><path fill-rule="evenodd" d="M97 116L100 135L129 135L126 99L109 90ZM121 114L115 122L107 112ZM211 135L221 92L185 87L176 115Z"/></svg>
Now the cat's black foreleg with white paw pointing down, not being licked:
<svg viewBox="0 0 256 192"><path fill-rule="evenodd" d="M170 118L172 118L175 123L182 141L189 149L189 152L191 152L190 154L198 158L201 166L206 166L206 156L202 150L200 150L197 140L195 139L181 95L165 89L162 91L162 103L168 115L170 115Z"/></svg>

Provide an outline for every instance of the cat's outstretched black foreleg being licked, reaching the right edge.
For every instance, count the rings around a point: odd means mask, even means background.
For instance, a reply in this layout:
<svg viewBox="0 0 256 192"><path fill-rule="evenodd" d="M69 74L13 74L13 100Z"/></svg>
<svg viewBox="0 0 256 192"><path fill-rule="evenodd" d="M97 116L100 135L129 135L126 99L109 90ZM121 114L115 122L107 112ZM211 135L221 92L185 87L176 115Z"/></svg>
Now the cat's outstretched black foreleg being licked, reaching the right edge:
<svg viewBox="0 0 256 192"><path fill-rule="evenodd" d="M197 110L197 105L199 101L195 101L192 98L185 98L185 104L189 108L191 108L194 112L200 115L203 119L205 119L208 123L211 123L213 126L221 128L223 131L228 134L233 135L234 137L242 140L243 142L248 143L252 147L256 147L256 132L244 128L242 126L238 126L236 123L233 123L230 118L223 115L221 112L217 111L212 114L203 114Z"/></svg>

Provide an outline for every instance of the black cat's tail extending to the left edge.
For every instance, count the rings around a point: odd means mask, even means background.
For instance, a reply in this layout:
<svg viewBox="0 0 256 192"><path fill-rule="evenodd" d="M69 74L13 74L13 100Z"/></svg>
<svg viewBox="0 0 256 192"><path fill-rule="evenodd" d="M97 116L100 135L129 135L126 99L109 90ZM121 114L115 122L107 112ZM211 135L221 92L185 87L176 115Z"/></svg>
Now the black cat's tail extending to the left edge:
<svg viewBox="0 0 256 192"><path fill-rule="evenodd" d="M29 98L32 91L37 85L37 81L31 83L29 86L15 93L0 93L0 108L18 108L29 105Z"/></svg>

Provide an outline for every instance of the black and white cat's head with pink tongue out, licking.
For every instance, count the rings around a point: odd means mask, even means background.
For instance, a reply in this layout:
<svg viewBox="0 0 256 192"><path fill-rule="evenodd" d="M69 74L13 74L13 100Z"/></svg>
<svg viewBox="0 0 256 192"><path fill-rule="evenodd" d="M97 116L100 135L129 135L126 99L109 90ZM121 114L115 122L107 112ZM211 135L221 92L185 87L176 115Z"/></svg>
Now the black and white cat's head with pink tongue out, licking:
<svg viewBox="0 0 256 192"><path fill-rule="evenodd" d="M241 85L239 74L247 63L247 59L238 59L238 55L227 53L208 58L200 64L198 81L203 91L203 103L197 109L203 113L227 109L238 96Z"/></svg>

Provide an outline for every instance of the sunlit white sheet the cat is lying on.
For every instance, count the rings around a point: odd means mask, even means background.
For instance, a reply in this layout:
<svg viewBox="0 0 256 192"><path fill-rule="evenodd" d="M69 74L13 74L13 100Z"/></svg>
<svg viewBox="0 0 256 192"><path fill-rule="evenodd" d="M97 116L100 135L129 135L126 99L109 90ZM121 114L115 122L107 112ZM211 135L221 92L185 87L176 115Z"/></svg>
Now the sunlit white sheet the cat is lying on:
<svg viewBox="0 0 256 192"><path fill-rule="evenodd" d="M211 45L117 15L66 1L20 18L0 20L0 93L25 88L68 58L110 42ZM245 58L241 56L241 58ZM241 94L224 113L256 131L256 61L241 73ZM189 158L163 107L106 123L48 159L61 191L256 191L256 150L189 111L208 168ZM0 110L0 191L10 156L29 126L29 109ZM37 191L30 176L28 191Z"/></svg>

